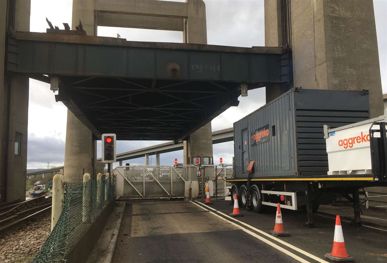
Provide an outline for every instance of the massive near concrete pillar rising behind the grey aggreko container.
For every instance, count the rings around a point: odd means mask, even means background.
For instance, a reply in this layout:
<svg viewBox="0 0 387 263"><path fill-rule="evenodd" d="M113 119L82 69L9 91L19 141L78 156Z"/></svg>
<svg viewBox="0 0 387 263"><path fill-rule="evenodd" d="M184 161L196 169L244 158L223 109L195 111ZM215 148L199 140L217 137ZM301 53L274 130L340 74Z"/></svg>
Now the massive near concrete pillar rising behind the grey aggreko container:
<svg viewBox="0 0 387 263"><path fill-rule="evenodd" d="M295 87L370 90L371 117L383 114L372 1L288 0ZM288 23L289 24L289 23ZM265 46L281 46L281 1L265 0ZM267 101L282 93L267 87Z"/></svg>

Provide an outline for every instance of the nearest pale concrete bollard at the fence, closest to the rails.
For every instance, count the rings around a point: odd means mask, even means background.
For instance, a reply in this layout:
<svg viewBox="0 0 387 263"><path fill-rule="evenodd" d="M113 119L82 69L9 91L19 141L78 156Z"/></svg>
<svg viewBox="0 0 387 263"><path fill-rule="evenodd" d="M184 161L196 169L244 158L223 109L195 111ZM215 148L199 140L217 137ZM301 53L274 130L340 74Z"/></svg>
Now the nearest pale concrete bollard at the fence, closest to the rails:
<svg viewBox="0 0 387 263"><path fill-rule="evenodd" d="M51 231L58 221L63 209L63 199L65 197L63 183L65 177L60 173L54 175L52 179L52 207L51 207Z"/></svg>

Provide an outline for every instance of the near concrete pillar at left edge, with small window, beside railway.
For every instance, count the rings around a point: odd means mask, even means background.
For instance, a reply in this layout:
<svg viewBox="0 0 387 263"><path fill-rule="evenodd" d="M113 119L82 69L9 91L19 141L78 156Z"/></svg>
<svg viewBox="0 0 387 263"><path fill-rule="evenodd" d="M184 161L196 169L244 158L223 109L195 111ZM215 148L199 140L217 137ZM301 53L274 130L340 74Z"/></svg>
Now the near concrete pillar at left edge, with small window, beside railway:
<svg viewBox="0 0 387 263"><path fill-rule="evenodd" d="M14 16L7 15L8 3L0 3L0 201L26 198L23 192L27 169L29 78L4 73L6 32L8 29L29 31L31 1L15 0ZM15 20L11 21L11 17ZM21 135L18 154L15 154L16 132Z"/></svg>

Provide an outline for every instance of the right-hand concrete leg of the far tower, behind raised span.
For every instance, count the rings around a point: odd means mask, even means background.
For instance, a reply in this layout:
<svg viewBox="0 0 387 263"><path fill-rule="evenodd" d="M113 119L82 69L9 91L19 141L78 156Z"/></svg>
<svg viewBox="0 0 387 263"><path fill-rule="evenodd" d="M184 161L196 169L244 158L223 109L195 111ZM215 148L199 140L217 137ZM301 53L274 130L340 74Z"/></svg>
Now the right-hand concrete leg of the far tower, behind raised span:
<svg viewBox="0 0 387 263"><path fill-rule="evenodd" d="M184 20L183 42L207 44L207 23L205 17L205 3L202 0L186 0L188 16ZM192 158L200 156L200 163L204 157L212 157L212 127L211 122L192 133L183 143L183 163L192 163Z"/></svg>

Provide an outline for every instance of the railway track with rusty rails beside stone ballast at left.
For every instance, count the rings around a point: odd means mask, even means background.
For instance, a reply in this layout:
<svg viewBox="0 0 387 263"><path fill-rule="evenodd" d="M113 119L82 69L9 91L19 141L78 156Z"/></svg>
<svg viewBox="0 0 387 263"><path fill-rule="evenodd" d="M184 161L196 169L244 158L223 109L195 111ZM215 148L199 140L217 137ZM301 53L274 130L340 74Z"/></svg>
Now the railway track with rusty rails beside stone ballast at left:
<svg viewBox="0 0 387 263"><path fill-rule="evenodd" d="M17 229L27 221L33 221L41 214L50 211L51 198L35 197L23 202L12 202L0 207L0 237Z"/></svg>

